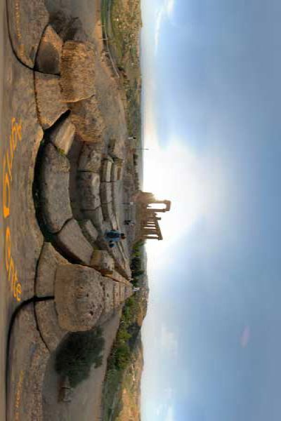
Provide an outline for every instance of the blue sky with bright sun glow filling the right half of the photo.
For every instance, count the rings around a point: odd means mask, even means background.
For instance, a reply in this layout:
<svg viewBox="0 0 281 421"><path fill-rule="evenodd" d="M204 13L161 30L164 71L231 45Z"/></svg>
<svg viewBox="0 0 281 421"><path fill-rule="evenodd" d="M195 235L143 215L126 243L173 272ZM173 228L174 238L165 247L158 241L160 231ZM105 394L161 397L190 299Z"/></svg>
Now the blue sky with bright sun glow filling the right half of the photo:
<svg viewBox="0 0 281 421"><path fill-rule="evenodd" d="M152 5L153 3L153 5ZM143 421L281 419L281 3L142 0Z"/></svg>

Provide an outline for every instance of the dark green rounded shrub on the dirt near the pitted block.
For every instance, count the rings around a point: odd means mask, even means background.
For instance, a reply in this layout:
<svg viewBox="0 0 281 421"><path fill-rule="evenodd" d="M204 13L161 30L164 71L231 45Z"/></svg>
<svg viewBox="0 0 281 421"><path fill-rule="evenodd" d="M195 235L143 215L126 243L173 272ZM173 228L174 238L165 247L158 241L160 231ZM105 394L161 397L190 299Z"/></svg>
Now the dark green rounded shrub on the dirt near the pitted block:
<svg viewBox="0 0 281 421"><path fill-rule="evenodd" d="M102 365L105 345L102 334L100 328L70 333L58 349L55 370L69 377L72 387L89 377L91 366L97 368Z"/></svg>

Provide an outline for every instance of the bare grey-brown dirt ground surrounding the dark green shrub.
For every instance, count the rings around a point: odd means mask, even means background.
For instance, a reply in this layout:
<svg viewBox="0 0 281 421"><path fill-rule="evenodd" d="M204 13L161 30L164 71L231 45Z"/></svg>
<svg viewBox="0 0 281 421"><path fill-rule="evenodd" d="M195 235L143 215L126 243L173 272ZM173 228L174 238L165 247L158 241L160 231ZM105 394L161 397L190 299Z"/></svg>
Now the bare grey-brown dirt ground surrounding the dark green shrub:
<svg viewBox="0 0 281 421"><path fill-rule="evenodd" d="M59 377L54 369L54 356L51 356L44 380L44 420L45 421L101 421L100 402L103 393L103 380L107 357L119 327L120 314L103 325L105 350L103 366L93 369L88 380L75 389L71 403L58 403Z"/></svg>

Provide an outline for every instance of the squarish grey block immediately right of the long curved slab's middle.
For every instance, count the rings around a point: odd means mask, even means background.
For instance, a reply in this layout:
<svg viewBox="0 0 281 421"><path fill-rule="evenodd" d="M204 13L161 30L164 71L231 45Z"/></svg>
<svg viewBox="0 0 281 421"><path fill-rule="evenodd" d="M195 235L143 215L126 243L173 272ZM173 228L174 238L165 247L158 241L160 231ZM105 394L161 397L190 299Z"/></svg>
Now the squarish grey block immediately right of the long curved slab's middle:
<svg viewBox="0 0 281 421"><path fill-rule="evenodd" d="M82 210L96 209L100 206L100 175L97 173L78 173L80 207Z"/></svg>

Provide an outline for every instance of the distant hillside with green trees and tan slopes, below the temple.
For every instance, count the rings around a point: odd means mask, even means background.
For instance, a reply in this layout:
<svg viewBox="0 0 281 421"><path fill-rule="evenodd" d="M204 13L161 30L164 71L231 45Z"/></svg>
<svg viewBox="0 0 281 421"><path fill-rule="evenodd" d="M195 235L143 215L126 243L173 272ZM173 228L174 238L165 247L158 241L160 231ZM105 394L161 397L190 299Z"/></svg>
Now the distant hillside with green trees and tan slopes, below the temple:
<svg viewBox="0 0 281 421"><path fill-rule="evenodd" d="M107 361L103 387L103 421L140 420L143 345L141 326L148 307L147 276L139 280L141 290L127 300L117 339Z"/></svg>

